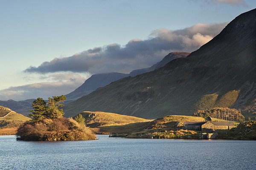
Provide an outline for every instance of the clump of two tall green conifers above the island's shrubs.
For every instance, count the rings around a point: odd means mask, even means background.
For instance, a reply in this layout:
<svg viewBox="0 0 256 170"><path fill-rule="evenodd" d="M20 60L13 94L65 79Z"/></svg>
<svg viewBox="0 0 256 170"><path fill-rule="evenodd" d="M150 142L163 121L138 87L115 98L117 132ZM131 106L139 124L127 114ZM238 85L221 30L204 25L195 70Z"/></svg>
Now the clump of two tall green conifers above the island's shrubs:
<svg viewBox="0 0 256 170"><path fill-rule="evenodd" d="M66 100L66 96L52 96L52 98L48 98L48 103L44 101L42 98L36 99L34 102L32 102L32 107L34 110L29 110L32 113L29 114L32 119L35 121L41 121L44 118L48 119L57 119L61 118L62 115L64 115L64 112L62 109L59 109L58 107L63 107L63 104L60 104L60 102L63 102Z"/></svg>

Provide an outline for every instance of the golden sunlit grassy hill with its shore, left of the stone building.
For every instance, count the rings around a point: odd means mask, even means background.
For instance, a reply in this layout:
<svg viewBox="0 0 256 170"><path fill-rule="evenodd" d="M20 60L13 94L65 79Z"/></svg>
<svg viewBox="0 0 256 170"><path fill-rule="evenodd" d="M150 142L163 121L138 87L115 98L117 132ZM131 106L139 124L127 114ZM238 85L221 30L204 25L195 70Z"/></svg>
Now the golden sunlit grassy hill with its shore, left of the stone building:
<svg viewBox="0 0 256 170"><path fill-rule="evenodd" d="M169 136L170 138L183 136L184 138L193 137L199 139L199 133L202 132L183 130L184 122L208 121L207 118L182 115L169 115L155 120L105 112L83 112L81 115L85 118L87 127L90 127L95 133L112 134L111 136L113 137L134 138L151 138L152 135L157 137L164 135L166 131L172 131L177 134ZM221 119L212 118L212 120L224 122Z"/></svg>

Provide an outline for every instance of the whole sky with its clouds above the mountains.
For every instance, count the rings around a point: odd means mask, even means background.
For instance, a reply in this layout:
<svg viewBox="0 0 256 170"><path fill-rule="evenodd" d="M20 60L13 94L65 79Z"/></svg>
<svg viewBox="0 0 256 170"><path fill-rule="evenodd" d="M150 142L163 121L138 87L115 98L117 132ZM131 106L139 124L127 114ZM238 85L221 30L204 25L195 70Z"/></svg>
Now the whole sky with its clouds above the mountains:
<svg viewBox="0 0 256 170"><path fill-rule="evenodd" d="M192 52L256 0L0 0L0 100L68 94L92 74Z"/></svg>

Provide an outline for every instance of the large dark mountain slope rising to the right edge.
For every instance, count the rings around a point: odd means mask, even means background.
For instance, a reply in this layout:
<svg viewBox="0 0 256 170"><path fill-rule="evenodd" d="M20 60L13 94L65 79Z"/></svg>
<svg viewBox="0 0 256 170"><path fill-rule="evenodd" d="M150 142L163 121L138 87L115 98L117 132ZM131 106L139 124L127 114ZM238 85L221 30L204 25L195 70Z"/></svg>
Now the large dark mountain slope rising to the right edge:
<svg viewBox="0 0 256 170"><path fill-rule="evenodd" d="M256 9L231 21L186 58L126 77L64 107L65 116L105 111L146 119L211 108L256 114Z"/></svg>

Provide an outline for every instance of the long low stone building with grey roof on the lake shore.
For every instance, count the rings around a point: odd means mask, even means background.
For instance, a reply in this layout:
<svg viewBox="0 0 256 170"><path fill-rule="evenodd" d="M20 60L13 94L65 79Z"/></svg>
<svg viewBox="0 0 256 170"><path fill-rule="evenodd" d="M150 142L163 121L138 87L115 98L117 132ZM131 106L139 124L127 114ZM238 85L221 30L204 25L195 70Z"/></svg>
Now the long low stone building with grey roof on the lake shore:
<svg viewBox="0 0 256 170"><path fill-rule="evenodd" d="M233 127L234 122L184 122L183 129L186 130L228 130Z"/></svg>

